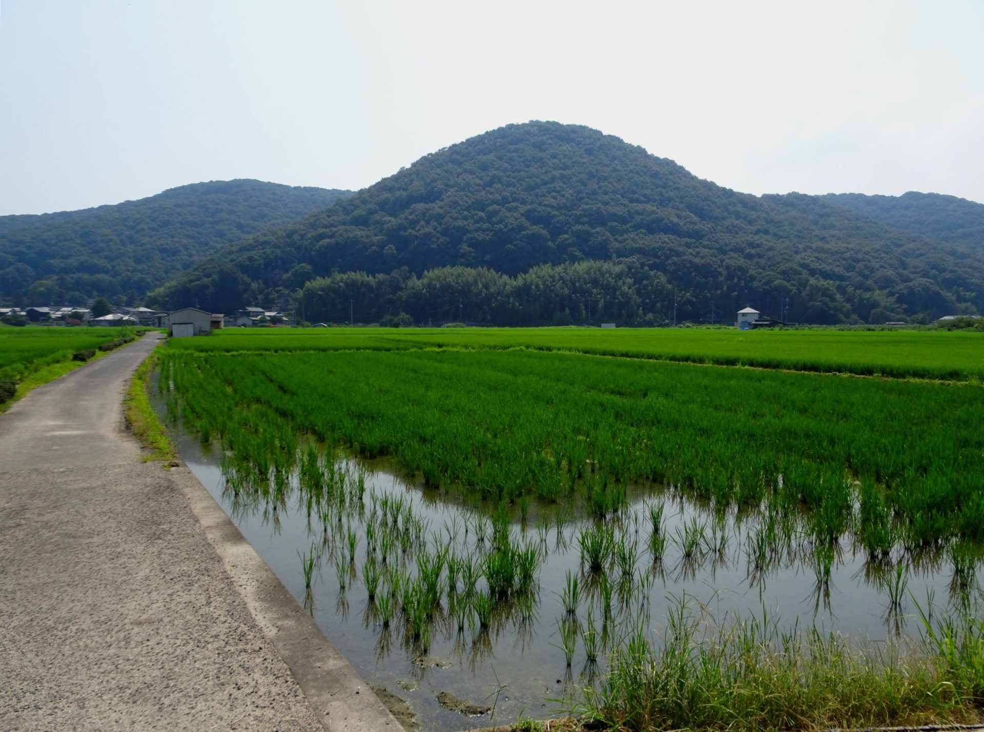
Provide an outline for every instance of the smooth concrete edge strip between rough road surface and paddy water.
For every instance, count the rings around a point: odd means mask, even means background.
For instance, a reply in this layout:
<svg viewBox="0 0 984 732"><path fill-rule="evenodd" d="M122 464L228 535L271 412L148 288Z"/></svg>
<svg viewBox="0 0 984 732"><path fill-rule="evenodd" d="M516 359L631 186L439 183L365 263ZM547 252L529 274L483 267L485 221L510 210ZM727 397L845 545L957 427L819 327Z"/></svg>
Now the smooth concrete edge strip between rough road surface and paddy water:
<svg viewBox="0 0 984 732"><path fill-rule="evenodd" d="M257 624L273 641L311 708L332 732L401 730L348 660L277 579L184 464L169 471Z"/></svg>

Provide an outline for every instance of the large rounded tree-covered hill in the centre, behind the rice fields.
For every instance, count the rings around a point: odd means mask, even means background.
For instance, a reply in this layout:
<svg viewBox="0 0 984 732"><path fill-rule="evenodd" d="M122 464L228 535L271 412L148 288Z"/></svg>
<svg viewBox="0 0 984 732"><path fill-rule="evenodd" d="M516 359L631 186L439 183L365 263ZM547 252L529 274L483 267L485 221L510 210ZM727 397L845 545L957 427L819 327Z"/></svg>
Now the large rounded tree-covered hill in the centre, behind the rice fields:
<svg viewBox="0 0 984 732"><path fill-rule="evenodd" d="M149 300L227 311L293 292L307 320L526 324L661 322L674 299L680 320L984 308L984 261L943 249L823 198L736 193L618 138L530 122L222 248Z"/></svg>

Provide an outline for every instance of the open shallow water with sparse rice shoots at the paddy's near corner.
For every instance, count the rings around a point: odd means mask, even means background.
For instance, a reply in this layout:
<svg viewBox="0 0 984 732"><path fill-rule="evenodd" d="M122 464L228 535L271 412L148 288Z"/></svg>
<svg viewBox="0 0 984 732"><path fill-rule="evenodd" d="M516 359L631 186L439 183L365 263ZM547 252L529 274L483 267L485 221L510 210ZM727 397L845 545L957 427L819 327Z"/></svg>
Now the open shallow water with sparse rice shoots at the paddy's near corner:
<svg viewBox="0 0 984 732"><path fill-rule="evenodd" d="M976 559L898 550L873 562L848 538L816 544L795 516L719 512L668 487L629 487L598 520L576 503L471 501L385 460L313 450L289 480L257 484L174 431L325 635L428 730L554 715L610 648L640 627L658 642L681 604L881 641L917 636L917 602L959 606L976 582Z"/></svg>

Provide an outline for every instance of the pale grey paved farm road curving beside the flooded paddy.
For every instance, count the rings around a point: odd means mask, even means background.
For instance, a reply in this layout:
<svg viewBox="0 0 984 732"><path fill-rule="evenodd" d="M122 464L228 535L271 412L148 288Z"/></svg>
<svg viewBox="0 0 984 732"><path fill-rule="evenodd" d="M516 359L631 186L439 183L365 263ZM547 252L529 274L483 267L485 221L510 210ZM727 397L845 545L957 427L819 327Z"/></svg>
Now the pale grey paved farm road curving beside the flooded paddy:
<svg viewBox="0 0 984 732"><path fill-rule="evenodd" d="M142 461L122 399L157 338L0 415L0 729L395 729L188 471Z"/></svg>

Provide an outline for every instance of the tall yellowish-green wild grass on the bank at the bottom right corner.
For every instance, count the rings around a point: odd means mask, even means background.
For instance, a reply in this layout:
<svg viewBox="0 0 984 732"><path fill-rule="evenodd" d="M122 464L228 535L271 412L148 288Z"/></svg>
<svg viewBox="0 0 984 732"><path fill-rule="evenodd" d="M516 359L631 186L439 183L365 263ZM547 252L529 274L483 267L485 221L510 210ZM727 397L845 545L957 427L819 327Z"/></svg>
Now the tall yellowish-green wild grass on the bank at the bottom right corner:
<svg viewBox="0 0 984 732"><path fill-rule="evenodd" d="M927 628L929 629L927 623ZM573 709L620 730L823 729L974 720L984 627L965 618L928 643L852 644L762 619L717 623L680 601L661 642L643 627Z"/></svg>

